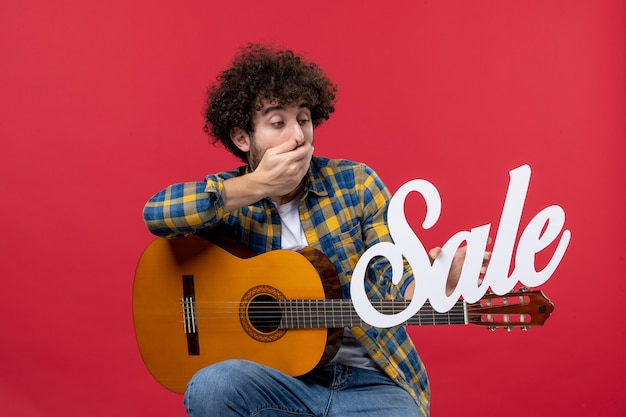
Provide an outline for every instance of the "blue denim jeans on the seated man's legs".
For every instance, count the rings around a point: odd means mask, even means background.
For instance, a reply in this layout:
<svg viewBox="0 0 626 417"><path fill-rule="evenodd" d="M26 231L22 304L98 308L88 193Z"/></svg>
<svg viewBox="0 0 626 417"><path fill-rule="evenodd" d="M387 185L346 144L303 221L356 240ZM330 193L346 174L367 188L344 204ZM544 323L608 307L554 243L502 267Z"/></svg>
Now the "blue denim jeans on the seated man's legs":
<svg viewBox="0 0 626 417"><path fill-rule="evenodd" d="M187 384L189 417L425 417L382 372L334 364L291 377L254 362L203 368Z"/></svg>

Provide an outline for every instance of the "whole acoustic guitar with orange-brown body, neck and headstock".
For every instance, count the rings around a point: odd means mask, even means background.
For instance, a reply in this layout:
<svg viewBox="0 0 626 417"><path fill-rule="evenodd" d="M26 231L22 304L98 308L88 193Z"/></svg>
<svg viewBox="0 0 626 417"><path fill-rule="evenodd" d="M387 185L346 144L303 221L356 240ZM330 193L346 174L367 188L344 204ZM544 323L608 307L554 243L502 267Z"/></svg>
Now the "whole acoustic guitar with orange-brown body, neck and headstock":
<svg viewBox="0 0 626 417"><path fill-rule="evenodd" d="M387 314L408 301L373 301ZM540 291L487 294L447 313L426 303L407 325L543 325L554 309ZM139 351L152 376L178 393L199 369L247 359L292 376L337 352L344 327L368 327L341 299L337 273L318 250L253 255L242 246L189 236L158 238L139 259L133 285Z"/></svg>

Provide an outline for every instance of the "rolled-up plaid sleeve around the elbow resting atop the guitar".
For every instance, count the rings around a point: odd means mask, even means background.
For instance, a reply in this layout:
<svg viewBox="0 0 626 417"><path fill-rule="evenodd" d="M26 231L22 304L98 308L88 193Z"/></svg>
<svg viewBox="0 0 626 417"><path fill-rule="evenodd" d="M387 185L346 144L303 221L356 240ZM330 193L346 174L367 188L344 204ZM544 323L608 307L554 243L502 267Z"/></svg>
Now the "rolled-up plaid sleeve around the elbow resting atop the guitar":
<svg viewBox="0 0 626 417"><path fill-rule="evenodd" d="M160 237L179 237L212 228L224 216L223 179L210 175L205 182L170 185L144 206L148 230Z"/></svg>

